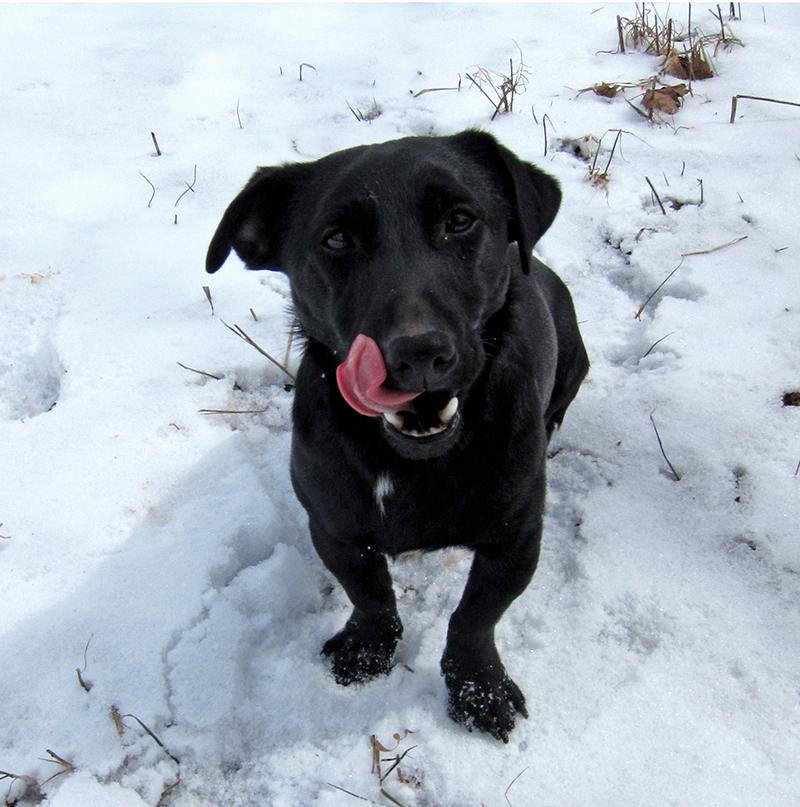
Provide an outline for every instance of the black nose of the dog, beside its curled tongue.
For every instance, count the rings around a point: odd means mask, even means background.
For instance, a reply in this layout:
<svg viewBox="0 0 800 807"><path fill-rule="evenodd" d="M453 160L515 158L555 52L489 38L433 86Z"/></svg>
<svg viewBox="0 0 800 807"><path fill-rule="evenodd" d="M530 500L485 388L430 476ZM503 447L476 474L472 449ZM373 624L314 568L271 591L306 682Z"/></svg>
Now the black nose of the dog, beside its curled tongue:
<svg viewBox="0 0 800 807"><path fill-rule="evenodd" d="M383 353L389 381L406 390L437 389L456 363L453 340L442 331L396 336Z"/></svg>

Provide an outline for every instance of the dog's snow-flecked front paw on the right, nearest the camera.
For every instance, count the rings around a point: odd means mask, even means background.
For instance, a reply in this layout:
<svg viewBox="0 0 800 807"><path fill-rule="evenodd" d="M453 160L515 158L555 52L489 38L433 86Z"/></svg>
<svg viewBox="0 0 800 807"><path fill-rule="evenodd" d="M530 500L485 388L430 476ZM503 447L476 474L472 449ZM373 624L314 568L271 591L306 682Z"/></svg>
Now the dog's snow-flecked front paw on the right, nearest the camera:
<svg viewBox="0 0 800 807"><path fill-rule="evenodd" d="M528 717L525 696L499 656L485 664L457 663L445 657L442 675L447 685L447 713L469 731L476 728L507 743L517 715Z"/></svg>

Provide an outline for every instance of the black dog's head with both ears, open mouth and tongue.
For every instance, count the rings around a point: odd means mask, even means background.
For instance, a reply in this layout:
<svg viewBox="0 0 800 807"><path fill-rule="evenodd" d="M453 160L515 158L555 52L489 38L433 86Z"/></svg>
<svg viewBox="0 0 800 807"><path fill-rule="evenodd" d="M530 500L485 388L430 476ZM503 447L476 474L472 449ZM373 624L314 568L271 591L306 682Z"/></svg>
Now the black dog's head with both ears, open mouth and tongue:
<svg viewBox="0 0 800 807"><path fill-rule="evenodd" d="M303 332L340 363L345 400L381 416L403 456L439 456L485 364L486 325L560 201L554 179L483 132L361 146L258 169L206 269L234 249L250 269L285 272Z"/></svg>

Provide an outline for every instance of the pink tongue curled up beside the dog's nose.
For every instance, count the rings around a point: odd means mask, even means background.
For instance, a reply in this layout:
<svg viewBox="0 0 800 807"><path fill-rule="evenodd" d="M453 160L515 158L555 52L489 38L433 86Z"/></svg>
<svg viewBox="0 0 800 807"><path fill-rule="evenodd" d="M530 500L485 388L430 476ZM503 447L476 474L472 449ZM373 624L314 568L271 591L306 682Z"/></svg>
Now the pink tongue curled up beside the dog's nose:
<svg viewBox="0 0 800 807"><path fill-rule="evenodd" d="M336 381L345 401L362 415L378 417L399 412L418 392L385 389L386 365L374 339L360 333L350 347L347 360L336 368Z"/></svg>

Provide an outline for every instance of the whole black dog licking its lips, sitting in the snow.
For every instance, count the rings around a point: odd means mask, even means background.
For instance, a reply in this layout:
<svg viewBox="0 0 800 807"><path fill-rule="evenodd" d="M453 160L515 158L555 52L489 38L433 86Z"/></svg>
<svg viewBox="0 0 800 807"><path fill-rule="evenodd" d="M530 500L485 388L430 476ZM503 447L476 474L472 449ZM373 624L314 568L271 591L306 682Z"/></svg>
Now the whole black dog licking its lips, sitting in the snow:
<svg viewBox="0 0 800 807"><path fill-rule="evenodd" d="M536 568L547 443L589 366L566 286L531 256L560 201L488 134L406 138L258 169L206 263L232 247L291 282L306 340L292 480L353 603L322 651L336 680L392 668L385 556L468 547L449 713L506 742L527 712L494 628Z"/></svg>

